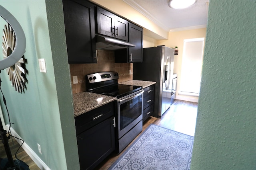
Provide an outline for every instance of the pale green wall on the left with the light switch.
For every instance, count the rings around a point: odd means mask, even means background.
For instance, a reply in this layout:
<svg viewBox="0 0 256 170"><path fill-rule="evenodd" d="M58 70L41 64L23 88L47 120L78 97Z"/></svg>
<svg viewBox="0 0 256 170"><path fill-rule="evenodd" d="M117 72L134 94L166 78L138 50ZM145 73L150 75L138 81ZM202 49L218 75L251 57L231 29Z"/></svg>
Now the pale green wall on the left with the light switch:
<svg viewBox="0 0 256 170"><path fill-rule="evenodd" d="M0 4L19 21L26 36L24 93L14 90L5 70L1 73L12 128L50 169L79 169L62 2L1 0ZM6 22L2 17L0 21L2 30ZM41 58L47 73L39 70ZM2 96L0 104L7 124Z"/></svg>

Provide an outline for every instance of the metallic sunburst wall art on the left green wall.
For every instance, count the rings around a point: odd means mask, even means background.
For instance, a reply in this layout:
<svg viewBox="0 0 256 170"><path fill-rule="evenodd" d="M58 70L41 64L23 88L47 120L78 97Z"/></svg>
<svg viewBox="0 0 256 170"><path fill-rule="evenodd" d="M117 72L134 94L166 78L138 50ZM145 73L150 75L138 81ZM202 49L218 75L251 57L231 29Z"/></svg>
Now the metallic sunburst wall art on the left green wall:
<svg viewBox="0 0 256 170"><path fill-rule="evenodd" d="M4 25L4 35L2 36L2 48L4 59L12 54L16 45L16 36L15 33L8 23ZM25 87L25 69L22 68L22 63L24 63L24 58L22 57L17 63L6 68L6 72L9 75L9 80L11 81L12 86L18 92L23 92Z"/></svg>

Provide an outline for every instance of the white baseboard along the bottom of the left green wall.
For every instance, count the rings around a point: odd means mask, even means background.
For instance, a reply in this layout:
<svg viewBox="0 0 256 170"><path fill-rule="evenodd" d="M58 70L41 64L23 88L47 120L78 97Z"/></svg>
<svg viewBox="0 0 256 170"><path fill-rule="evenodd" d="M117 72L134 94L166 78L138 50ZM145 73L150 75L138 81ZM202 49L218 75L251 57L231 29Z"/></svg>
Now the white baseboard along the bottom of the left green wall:
<svg viewBox="0 0 256 170"><path fill-rule="evenodd" d="M6 125L6 131L8 132L9 130L9 125ZM18 133L16 133L16 131L14 131L14 129L12 129L11 127L11 133L12 136L17 137L19 139L22 139ZM16 139L16 138L14 138ZM16 139L16 141L21 145L22 141ZM44 161L42 161L42 159L40 159L40 157L26 144L26 142L23 143L23 145L21 146L24 151L28 154L28 156L30 156L30 158L36 163L36 165L41 169L41 170L50 170L50 168L44 163ZM25 162L26 163L26 162Z"/></svg>

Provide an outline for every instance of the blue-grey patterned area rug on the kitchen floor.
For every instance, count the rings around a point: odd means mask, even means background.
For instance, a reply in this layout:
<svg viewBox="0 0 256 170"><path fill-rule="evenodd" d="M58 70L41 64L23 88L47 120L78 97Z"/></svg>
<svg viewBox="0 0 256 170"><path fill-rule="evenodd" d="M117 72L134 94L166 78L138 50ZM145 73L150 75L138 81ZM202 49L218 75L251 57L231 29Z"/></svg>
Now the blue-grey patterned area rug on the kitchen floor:
<svg viewBox="0 0 256 170"><path fill-rule="evenodd" d="M189 170L194 137L150 124L108 170Z"/></svg>

